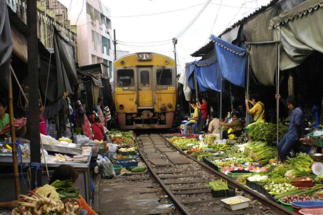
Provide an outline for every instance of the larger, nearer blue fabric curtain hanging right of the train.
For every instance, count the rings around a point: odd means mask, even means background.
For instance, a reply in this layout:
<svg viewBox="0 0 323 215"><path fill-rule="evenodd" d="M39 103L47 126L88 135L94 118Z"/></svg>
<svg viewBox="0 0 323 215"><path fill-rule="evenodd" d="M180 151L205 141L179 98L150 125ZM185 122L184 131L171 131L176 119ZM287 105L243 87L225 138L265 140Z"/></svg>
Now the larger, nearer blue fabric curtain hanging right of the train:
<svg viewBox="0 0 323 215"><path fill-rule="evenodd" d="M211 35L210 40L214 42L222 77L233 85L245 87L246 51L214 35Z"/></svg>

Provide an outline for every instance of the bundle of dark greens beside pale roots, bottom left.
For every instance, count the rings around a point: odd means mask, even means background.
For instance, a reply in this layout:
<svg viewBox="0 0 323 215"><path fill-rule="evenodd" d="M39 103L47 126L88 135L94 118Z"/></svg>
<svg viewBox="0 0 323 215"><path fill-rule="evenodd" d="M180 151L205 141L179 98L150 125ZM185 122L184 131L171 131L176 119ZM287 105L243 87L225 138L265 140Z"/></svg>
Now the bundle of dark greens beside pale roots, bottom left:
<svg viewBox="0 0 323 215"><path fill-rule="evenodd" d="M61 200L65 198L79 198L79 189L73 186L71 180L56 180L50 186L55 187Z"/></svg>

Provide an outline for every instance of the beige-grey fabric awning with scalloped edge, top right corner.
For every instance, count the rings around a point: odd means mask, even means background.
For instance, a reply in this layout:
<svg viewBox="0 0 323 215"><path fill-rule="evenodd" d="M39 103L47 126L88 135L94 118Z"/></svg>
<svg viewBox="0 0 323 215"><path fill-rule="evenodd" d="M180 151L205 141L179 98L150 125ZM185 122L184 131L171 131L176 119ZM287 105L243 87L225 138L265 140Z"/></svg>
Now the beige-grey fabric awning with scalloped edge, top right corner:
<svg viewBox="0 0 323 215"><path fill-rule="evenodd" d="M270 29L281 30L280 69L300 65L314 51L323 53L323 0L308 0L273 18Z"/></svg>

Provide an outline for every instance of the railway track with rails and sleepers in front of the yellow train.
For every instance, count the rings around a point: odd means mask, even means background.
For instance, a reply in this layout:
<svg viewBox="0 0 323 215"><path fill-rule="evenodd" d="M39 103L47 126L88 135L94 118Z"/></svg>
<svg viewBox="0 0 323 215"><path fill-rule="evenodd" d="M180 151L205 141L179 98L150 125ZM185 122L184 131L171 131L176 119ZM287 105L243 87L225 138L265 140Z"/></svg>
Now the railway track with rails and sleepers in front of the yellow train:
<svg viewBox="0 0 323 215"><path fill-rule="evenodd" d="M172 145L163 134L140 134L136 142L151 177L160 184L182 214L295 214L190 157ZM147 174L145 177L146 180L150 179ZM220 178L235 187L237 195L251 199L249 209L228 211L221 206L221 198L214 198L206 187L209 181Z"/></svg>

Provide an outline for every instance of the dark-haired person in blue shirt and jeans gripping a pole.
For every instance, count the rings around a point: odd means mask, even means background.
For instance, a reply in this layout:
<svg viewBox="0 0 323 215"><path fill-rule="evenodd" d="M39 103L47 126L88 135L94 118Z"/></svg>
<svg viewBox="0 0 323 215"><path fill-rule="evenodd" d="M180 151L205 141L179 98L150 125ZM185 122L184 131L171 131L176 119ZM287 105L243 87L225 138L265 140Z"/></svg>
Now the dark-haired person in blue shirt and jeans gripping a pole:
<svg viewBox="0 0 323 215"><path fill-rule="evenodd" d="M304 125L304 114L301 107L299 107L296 96L291 95L287 97L286 101L281 98L281 95L276 95L276 99L287 105L288 109L292 111L290 123L288 125L287 133L280 140L277 145L278 155L281 162L284 162L288 156L291 156L290 152L296 145L298 140L302 140L303 136L303 125Z"/></svg>

